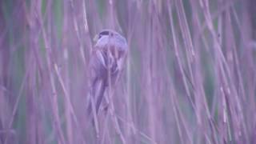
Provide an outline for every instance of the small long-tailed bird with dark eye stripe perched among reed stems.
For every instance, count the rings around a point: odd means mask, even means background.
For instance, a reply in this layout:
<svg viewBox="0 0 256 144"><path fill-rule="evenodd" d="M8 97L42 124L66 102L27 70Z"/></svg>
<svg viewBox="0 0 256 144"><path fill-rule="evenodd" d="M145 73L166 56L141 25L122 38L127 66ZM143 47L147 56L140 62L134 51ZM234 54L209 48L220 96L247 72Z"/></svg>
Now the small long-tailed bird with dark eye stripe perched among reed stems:
<svg viewBox="0 0 256 144"><path fill-rule="evenodd" d="M114 86L126 60L126 38L114 30L102 30L94 38L96 44L90 54L90 101L87 108L98 114L107 87ZM94 102L94 104L92 104ZM94 107L93 107L94 106Z"/></svg>

